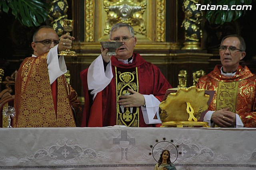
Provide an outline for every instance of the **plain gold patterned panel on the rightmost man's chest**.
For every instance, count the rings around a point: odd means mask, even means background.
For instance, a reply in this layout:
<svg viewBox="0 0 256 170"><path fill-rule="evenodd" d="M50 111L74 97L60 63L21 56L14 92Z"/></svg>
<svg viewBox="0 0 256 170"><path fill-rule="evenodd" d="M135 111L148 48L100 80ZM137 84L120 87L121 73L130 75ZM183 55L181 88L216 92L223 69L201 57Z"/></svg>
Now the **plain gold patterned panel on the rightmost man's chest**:
<svg viewBox="0 0 256 170"><path fill-rule="evenodd" d="M236 97L238 95L238 82L218 82L216 110L230 108L236 113Z"/></svg>

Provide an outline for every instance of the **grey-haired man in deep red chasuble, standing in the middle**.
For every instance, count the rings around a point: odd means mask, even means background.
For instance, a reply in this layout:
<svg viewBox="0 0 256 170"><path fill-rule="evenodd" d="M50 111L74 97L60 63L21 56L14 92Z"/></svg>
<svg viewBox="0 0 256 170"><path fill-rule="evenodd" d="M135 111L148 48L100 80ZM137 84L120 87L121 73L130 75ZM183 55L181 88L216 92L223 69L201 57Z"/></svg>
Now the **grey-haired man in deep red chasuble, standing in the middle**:
<svg viewBox="0 0 256 170"><path fill-rule="evenodd" d="M110 41L120 41L116 55L101 55L80 73L84 88L82 126L156 127L161 123L158 106L172 88L160 69L134 53L137 38L133 28L117 23Z"/></svg>

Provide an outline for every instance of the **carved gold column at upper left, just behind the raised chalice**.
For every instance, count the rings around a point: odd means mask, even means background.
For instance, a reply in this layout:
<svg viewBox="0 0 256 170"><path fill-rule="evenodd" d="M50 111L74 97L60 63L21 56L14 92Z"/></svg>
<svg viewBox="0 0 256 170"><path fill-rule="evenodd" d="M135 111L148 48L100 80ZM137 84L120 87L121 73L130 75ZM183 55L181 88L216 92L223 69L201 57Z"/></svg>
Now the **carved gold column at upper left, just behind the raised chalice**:
<svg viewBox="0 0 256 170"><path fill-rule="evenodd" d="M59 36L63 35L63 20L67 19L68 2L66 0L53 0L49 11L49 18L53 29Z"/></svg>

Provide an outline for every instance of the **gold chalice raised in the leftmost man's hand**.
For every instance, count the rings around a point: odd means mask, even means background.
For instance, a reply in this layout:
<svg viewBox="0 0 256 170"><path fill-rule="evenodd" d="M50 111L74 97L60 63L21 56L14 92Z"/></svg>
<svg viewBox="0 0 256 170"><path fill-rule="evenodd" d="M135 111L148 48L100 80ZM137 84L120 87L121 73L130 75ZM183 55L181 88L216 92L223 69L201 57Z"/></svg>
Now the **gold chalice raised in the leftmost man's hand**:
<svg viewBox="0 0 256 170"><path fill-rule="evenodd" d="M66 34L70 35L70 32L73 31L74 20L63 20L63 30L66 31ZM76 57L76 52L69 49L60 51L60 56L70 56Z"/></svg>

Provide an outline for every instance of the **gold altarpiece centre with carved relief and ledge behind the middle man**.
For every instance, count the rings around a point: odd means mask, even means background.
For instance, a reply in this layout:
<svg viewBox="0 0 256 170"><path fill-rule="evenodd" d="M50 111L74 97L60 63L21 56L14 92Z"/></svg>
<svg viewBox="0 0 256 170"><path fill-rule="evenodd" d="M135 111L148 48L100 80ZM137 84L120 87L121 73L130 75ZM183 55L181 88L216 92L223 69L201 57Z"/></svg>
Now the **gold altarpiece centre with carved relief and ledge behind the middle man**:
<svg viewBox="0 0 256 170"><path fill-rule="evenodd" d="M74 43L73 49L99 50L99 42L109 39L118 22L132 25L136 49L178 49L175 42L166 42L166 0L85 0L84 42Z"/></svg>

